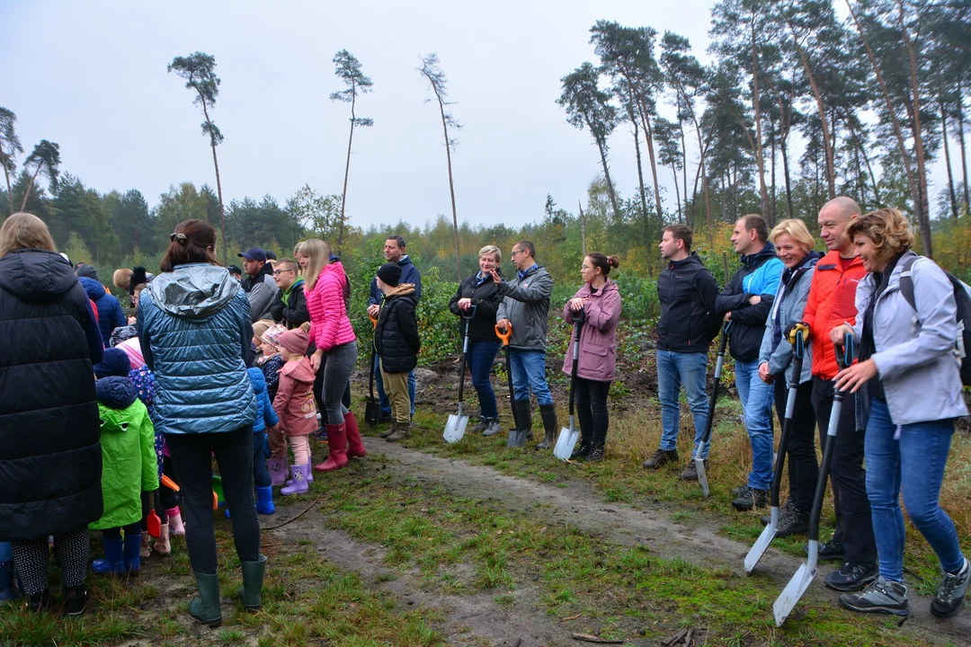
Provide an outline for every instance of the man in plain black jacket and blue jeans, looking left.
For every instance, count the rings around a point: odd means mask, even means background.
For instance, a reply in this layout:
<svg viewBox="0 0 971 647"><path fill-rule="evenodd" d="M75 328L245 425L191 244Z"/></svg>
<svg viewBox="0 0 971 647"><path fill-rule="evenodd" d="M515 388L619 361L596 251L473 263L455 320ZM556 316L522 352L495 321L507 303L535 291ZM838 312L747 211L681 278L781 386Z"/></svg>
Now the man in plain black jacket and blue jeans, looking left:
<svg viewBox="0 0 971 647"><path fill-rule="evenodd" d="M657 245L668 267L657 277L657 296L661 316L657 320L657 398L661 403L661 446L644 462L645 469L658 469L678 462L678 428L681 404L678 393L685 385L687 405L694 416L694 447L697 451L708 421L705 376L708 372L708 346L718 330L715 298L719 285L715 276L691 251L693 238L686 225L668 225ZM708 468L708 449L701 457ZM697 480L694 461L681 473L685 480Z"/></svg>

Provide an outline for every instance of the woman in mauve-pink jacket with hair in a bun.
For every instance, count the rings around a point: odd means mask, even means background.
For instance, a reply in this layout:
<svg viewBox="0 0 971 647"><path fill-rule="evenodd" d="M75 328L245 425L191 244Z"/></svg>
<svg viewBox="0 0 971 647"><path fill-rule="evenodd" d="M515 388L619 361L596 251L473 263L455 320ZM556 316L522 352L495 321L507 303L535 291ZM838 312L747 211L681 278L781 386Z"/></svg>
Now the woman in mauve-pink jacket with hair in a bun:
<svg viewBox="0 0 971 647"><path fill-rule="evenodd" d="M610 415L607 394L617 369L617 322L620 318L620 292L607 275L619 266L616 256L594 252L580 269L584 286L563 307L563 318L572 321L572 312L584 310L586 321L580 331L580 361L577 365L575 399L580 419L580 447L573 460L602 461ZM563 372L573 371L573 344L567 347Z"/></svg>

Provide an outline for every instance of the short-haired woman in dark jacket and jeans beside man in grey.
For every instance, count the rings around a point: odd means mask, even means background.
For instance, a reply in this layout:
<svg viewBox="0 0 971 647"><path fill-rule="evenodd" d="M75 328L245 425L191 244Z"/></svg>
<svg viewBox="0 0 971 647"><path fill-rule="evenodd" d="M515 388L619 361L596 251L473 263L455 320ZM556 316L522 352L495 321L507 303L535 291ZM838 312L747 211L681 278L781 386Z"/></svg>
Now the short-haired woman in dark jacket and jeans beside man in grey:
<svg viewBox="0 0 971 647"><path fill-rule="evenodd" d="M472 373L472 385L479 396L479 424L473 432L492 436L502 431L499 426L499 409L489 375L499 350L499 338L495 336L495 313L502 303L499 288L492 280L492 270L499 269L502 251L493 244L479 250L480 271L461 282L449 301L452 314L460 317L458 333L464 339L468 326L469 348L466 361ZM468 318L466 318L468 317Z"/></svg>

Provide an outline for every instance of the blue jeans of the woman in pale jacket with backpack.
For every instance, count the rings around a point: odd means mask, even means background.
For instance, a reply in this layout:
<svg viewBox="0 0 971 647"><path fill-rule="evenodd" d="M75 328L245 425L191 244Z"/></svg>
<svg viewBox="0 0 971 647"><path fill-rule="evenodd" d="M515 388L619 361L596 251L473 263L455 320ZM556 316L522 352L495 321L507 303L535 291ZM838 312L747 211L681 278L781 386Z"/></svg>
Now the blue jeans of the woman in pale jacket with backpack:
<svg viewBox="0 0 971 647"><path fill-rule="evenodd" d="M956 573L964 566L964 556L954 522L939 502L954 420L903 425L899 440L893 438L896 430L887 403L873 398L866 425L866 493L877 537L880 574L894 582L904 581L901 483L907 484L904 505L914 526L937 553L941 567Z"/></svg>

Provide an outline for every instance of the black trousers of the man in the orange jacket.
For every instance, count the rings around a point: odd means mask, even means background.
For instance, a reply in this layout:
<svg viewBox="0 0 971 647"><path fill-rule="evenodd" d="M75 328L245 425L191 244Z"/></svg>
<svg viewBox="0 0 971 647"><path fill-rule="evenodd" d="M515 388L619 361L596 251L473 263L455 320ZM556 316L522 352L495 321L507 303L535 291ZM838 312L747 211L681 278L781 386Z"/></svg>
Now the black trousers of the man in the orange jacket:
<svg viewBox="0 0 971 647"><path fill-rule="evenodd" d="M829 430L829 413L833 407L832 380L813 377L813 408L820 427L820 446L825 447ZM843 543L847 562L873 562L877 559L877 542L873 536L870 500L866 496L866 469L863 469L863 430L856 431L856 397L843 394L839 425L833 440L833 462L829 480L833 485L836 508L836 534Z"/></svg>

